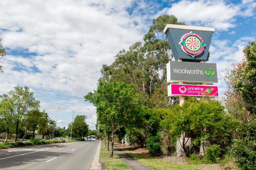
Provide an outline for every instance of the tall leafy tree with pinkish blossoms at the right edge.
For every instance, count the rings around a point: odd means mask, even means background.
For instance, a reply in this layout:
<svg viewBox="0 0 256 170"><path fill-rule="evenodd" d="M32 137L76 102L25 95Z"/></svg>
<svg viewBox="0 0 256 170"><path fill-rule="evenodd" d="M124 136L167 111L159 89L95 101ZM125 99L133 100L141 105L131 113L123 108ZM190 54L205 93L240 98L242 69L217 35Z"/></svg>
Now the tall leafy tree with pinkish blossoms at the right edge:
<svg viewBox="0 0 256 170"><path fill-rule="evenodd" d="M244 48L244 59L226 70L226 109L235 119L247 122L256 116L256 42Z"/></svg>

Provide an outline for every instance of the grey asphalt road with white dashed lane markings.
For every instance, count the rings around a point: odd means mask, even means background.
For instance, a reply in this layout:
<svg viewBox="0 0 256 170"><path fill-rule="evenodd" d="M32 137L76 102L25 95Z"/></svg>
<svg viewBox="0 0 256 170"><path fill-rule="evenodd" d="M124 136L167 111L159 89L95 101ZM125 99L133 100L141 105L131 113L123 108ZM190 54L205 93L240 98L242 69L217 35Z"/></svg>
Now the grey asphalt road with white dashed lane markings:
<svg viewBox="0 0 256 170"><path fill-rule="evenodd" d="M0 169L89 170L98 145L81 141L0 150Z"/></svg>

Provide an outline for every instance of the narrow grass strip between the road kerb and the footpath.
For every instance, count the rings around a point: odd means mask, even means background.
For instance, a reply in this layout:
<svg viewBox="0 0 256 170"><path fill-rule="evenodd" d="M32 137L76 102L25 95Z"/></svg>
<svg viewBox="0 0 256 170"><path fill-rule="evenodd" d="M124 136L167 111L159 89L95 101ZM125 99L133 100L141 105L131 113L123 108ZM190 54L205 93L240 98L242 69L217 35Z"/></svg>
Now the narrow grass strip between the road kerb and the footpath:
<svg viewBox="0 0 256 170"><path fill-rule="evenodd" d="M114 152L114 157L111 159L109 158L109 151L104 146L104 143L101 143L101 150L100 150L100 161L106 162L108 166L108 170L130 170L129 166L124 163Z"/></svg>

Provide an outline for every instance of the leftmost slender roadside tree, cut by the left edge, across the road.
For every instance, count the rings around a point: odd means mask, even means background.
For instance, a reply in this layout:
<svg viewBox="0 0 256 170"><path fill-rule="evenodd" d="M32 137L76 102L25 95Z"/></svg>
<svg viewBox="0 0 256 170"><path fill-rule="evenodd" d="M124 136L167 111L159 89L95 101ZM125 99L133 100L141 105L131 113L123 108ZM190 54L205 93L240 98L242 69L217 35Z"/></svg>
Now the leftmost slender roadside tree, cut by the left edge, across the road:
<svg viewBox="0 0 256 170"><path fill-rule="evenodd" d="M7 97L7 95L2 95L0 101L0 121L5 128L7 135L5 141L7 141L9 130L14 123L14 101Z"/></svg>

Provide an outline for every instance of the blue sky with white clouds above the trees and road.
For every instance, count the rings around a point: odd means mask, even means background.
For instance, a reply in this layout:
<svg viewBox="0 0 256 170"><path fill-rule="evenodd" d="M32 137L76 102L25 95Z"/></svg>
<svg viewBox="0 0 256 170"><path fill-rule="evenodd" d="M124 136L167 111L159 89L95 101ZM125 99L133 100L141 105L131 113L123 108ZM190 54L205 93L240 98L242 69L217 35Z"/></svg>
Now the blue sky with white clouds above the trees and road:
<svg viewBox="0 0 256 170"><path fill-rule="evenodd" d="M0 94L28 86L58 125L72 121L72 111L87 115L95 129L95 107L83 96L96 89L102 64L128 49L160 15L175 15L187 25L214 27L209 62L221 75L243 57L243 47L256 40L256 1L61 0L0 1L0 39L7 55L0 61Z"/></svg>

